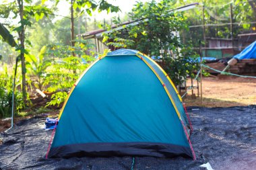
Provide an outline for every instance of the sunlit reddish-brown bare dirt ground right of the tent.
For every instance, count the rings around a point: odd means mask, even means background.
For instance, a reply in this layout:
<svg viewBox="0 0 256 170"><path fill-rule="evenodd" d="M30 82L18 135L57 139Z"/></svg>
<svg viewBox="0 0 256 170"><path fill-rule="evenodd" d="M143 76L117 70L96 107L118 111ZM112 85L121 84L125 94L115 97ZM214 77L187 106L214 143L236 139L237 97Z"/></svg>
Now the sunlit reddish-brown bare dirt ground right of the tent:
<svg viewBox="0 0 256 170"><path fill-rule="evenodd" d="M188 84L187 86L190 86ZM194 83L194 85L196 85ZM187 106L203 106L207 108L226 108L230 106L256 105L256 79L243 77L203 77L203 99L192 97L191 90L183 98ZM199 90L201 91L201 90ZM200 96L200 95L199 95Z"/></svg>

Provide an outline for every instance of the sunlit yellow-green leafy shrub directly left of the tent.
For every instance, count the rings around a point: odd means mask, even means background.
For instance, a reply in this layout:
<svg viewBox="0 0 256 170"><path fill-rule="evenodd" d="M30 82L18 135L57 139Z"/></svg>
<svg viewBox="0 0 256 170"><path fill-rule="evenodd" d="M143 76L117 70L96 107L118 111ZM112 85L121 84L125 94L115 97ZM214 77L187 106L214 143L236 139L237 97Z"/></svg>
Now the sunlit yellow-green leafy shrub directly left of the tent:
<svg viewBox="0 0 256 170"><path fill-rule="evenodd" d="M54 93L47 105L60 105L65 101L67 93L73 87L79 75L94 60L92 53L89 51L91 46L91 44L87 44L84 40L77 40L75 47L63 46L61 44L51 45L48 54L53 58L59 56L59 60L53 62L46 75L45 82L49 84L47 90ZM81 58L72 56L72 52L80 55ZM88 63L84 63L82 60L86 60Z"/></svg>

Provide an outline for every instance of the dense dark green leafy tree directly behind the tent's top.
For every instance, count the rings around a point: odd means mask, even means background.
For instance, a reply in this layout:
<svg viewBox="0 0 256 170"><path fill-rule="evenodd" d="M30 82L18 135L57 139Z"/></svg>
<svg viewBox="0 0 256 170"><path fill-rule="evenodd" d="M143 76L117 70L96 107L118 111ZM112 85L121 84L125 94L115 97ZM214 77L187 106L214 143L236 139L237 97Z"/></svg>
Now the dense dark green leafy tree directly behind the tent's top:
<svg viewBox="0 0 256 170"><path fill-rule="evenodd" d="M150 56L159 56L158 62L168 73L175 85L183 83L187 75L194 76L199 69L195 62L197 55L190 46L185 46L179 32L187 30L183 13L170 8L170 0L159 3L137 3L130 17L139 24L124 27L123 30L111 30L104 34L104 42L115 48L131 48ZM120 24L120 19L115 19Z"/></svg>

